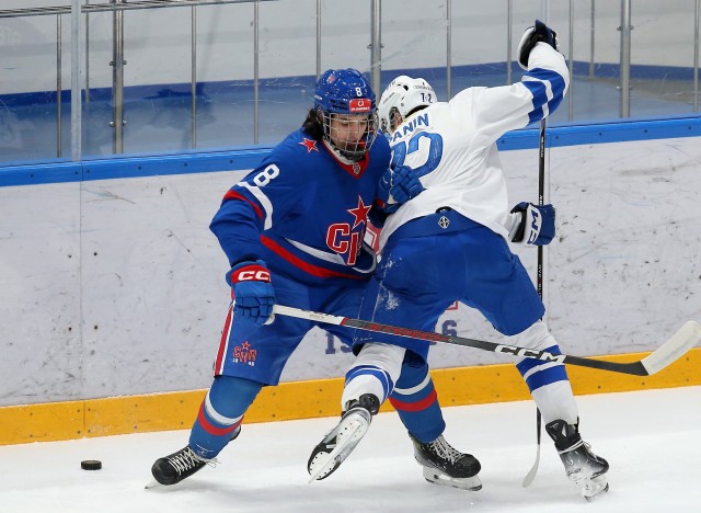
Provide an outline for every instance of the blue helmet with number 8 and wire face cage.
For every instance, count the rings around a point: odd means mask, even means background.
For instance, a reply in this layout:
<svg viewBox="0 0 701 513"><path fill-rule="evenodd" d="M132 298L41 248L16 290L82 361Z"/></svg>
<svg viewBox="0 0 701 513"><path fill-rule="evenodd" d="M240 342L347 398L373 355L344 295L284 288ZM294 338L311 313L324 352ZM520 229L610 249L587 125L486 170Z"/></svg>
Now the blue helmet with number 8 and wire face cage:
<svg viewBox="0 0 701 513"><path fill-rule="evenodd" d="M348 68L323 73L314 90L314 110L324 139L342 157L358 161L370 150L377 136L377 105L360 71Z"/></svg>

